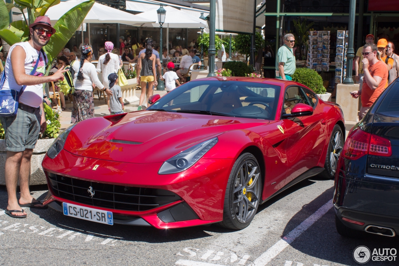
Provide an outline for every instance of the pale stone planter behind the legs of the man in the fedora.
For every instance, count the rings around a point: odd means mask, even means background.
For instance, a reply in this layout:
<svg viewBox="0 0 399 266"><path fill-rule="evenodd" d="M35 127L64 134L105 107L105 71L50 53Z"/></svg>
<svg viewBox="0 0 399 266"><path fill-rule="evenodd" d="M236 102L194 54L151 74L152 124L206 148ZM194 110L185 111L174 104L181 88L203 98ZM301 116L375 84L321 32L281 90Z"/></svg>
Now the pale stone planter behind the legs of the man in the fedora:
<svg viewBox="0 0 399 266"><path fill-rule="evenodd" d="M30 165L30 185L47 184L43 168L41 168L41 161L43 161L44 155L51 146L51 143L53 143L53 141L54 139L38 139L36 147L33 150ZM6 185L4 173L6 157L6 141L4 139L0 139L0 169L2 169L2 171L0 171L0 185Z"/></svg>

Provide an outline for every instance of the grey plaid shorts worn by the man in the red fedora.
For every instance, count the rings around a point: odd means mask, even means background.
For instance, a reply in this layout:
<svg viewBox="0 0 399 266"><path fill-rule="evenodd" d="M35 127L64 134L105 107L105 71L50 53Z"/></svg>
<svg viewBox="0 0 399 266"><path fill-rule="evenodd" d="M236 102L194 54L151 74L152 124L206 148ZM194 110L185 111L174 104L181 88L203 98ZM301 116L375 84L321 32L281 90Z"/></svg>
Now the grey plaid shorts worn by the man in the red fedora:
<svg viewBox="0 0 399 266"><path fill-rule="evenodd" d="M34 149L40 133L41 110L19 103L17 115L0 117L7 151Z"/></svg>

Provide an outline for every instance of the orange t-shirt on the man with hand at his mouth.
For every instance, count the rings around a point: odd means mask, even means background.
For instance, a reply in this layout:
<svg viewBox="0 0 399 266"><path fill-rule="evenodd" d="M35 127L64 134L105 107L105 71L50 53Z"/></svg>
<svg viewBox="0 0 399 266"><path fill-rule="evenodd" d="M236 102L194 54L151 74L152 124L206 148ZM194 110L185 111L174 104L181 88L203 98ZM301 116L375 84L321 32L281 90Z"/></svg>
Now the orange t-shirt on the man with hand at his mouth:
<svg viewBox="0 0 399 266"><path fill-rule="evenodd" d="M370 89L366 83L366 76L363 77L363 87L361 89L361 105L369 107L373 105L378 96L384 91L388 80L388 69L384 62L378 61L373 66L369 66L371 76L382 77L376 89Z"/></svg>

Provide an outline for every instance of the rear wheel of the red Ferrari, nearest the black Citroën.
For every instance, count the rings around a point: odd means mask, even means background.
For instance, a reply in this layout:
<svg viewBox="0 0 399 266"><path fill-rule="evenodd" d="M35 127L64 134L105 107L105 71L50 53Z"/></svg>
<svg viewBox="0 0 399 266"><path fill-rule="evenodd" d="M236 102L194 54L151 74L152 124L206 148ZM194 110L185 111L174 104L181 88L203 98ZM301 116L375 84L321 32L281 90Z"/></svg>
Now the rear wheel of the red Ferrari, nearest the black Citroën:
<svg viewBox="0 0 399 266"><path fill-rule="evenodd" d="M324 170L320 175L325 179L334 179L335 172L338 167L338 158L344 148L344 135L339 125L335 125L332 129L330 142L326 154L326 162L324 163Z"/></svg>

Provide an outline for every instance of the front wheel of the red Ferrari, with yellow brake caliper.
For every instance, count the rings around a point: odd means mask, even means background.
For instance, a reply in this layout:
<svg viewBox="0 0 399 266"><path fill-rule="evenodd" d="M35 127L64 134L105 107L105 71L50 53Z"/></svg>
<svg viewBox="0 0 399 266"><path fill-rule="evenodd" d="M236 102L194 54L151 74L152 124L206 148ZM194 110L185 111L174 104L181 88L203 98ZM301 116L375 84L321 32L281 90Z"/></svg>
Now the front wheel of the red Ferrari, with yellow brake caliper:
<svg viewBox="0 0 399 266"><path fill-rule="evenodd" d="M220 225L234 230L247 227L257 212L261 191L259 163L251 153L244 153L231 169L225 192L223 221Z"/></svg>

